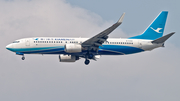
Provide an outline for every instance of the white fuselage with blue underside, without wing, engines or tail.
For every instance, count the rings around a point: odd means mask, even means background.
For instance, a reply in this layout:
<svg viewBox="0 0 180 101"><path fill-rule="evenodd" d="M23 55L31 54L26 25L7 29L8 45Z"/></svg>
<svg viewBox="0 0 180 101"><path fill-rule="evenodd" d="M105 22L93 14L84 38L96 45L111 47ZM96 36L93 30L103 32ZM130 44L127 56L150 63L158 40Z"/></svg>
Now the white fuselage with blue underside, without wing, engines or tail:
<svg viewBox="0 0 180 101"><path fill-rule="evenodd" d="M17 54L70 54L64 51L66 44L81 44L88 38L36 37L16 40L6 48ZM153 44L152 40L109 38L95 55L125 55L152 50L162 44ZM83 54L71 53L71 54Z"/></svg>

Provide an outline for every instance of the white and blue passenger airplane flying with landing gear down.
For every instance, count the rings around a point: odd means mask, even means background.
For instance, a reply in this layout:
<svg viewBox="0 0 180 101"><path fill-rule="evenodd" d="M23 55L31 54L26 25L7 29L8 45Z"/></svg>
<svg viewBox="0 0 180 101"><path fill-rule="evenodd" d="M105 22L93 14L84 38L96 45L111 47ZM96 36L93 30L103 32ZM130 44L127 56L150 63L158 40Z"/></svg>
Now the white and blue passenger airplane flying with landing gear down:
<svg viewBox="0 0 180 101"><path fill-rule="evenodd" d="M175 33L163 36L167 15L168 11L161 11L141 35L134 37L108 37L121 25L125 16L123 13L115 24L91 38L23 38L7 45L6 49L22 55L22 60L25 60L24 54L56 54L60 62L75 62L84 58L84 63L88 65L90 60L97 60L101 55L128 55L164 47L165 41Z"/></svg>

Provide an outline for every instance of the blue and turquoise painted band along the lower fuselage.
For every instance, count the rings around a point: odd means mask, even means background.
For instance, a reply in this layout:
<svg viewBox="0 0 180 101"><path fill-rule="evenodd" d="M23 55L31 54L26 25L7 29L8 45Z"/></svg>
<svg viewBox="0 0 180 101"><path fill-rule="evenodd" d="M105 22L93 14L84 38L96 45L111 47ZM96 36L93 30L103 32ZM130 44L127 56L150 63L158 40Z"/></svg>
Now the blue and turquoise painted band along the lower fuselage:
<svg viewBox="0 0 180 101"><path fill-rule="evenodd" d="M68 54L64 51L64 46L55 47L41 47L41 48L11 48L9 49L13 52L21 52L24 54ZM99 51L96 54L99 55L124 55L132 54L144 51L143 49L132 47L132 46L122 46L122 45L103 45L99 47ZM75 53L75 54L83 54Z"/></svg>

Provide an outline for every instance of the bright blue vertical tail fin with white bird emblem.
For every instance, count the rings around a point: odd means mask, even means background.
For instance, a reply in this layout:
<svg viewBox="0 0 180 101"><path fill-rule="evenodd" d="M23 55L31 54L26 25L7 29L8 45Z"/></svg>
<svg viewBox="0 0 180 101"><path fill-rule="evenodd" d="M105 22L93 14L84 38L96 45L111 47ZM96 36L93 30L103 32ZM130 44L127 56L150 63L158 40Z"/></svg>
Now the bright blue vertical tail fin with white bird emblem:
<svg viewBox="0 0 180 101"><path fill-rule="evenodd" d="M163 36L168 11L162 11L154 21L147 27L143 34L130 37L129 39L148 39L155 40Z"/></svg>

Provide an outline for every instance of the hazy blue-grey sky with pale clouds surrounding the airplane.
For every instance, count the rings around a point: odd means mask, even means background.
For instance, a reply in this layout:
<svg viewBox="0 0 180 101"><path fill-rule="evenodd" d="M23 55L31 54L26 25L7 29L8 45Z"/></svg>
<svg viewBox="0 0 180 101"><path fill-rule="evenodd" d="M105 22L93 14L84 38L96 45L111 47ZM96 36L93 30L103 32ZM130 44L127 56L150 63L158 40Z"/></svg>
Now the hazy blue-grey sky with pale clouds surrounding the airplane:
<svg viewBox="0 0 180 101"><path fill-rule="evenodd" d="M179 101L179 0L0 0L0 101ZM165 44L150 52L102 56L84 65L58 55L15 55L5 49L26 37L92 37L126 12L110 37L141 34L169 11Z"/></svg>

